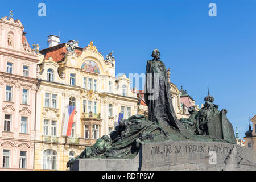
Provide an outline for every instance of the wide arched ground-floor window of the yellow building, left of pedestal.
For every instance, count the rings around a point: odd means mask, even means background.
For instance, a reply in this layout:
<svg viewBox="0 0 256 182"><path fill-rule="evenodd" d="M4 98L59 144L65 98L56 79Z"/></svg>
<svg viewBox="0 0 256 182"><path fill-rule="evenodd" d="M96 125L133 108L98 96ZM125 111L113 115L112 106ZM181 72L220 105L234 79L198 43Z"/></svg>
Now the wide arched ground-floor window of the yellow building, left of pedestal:
<svg viewBox="0 0 256 182"><path fill-rule="evenodd" d="M54 150L45 150L43 154L43 169L57 169L57 152Z"/></svg>

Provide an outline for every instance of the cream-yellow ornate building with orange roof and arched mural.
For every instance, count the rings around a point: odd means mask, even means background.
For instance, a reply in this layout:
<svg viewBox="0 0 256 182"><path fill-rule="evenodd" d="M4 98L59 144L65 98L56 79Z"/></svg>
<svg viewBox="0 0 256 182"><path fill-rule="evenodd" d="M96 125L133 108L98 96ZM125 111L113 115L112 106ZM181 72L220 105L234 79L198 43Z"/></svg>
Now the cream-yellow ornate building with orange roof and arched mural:
<svg viewBox="0 0 256 182"><path fill-rule="evenodd" d="M69 158L114 130L119 113L137 114L138 99L129 78L115 78L112 53L104 59L93 42L80 48L48 38L37 71L35 169L67 170ZM62 135L67 105L76 108L69 137Z"/></svg>

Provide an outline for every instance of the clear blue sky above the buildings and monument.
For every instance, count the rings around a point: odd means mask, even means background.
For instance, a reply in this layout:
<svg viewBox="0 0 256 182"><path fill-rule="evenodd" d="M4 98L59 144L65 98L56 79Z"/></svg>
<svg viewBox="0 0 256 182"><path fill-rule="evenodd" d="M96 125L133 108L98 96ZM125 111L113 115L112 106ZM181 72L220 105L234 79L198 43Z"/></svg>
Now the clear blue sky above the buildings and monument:
<svg viewBox="0 0 256 182"><path fill-rule="evenodd" d="M38 4L46 4L46 17ZM217 17L210 17L209 3ZM256 114L256 1L4 1L0 16L13 10L24 25L30 45L46 48L47 36L61 43L93 40L102 55L113 51L116 73L144 73L158 48L171 82L201 105L214 96L219 109L244 137Z"/></svg>

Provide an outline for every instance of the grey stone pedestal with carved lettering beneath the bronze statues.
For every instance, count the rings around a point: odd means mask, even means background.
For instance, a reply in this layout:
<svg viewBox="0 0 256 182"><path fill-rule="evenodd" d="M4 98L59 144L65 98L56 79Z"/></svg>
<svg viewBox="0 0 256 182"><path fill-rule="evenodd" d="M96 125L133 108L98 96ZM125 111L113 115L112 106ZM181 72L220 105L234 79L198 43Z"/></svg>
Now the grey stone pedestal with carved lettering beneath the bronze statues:
<svg viewBox="0 0 256 182"><path fill-rule="evenodd" d="M152 142L133 159L80 159L71 170L256 170L256 151L229 143Z"/></svg>

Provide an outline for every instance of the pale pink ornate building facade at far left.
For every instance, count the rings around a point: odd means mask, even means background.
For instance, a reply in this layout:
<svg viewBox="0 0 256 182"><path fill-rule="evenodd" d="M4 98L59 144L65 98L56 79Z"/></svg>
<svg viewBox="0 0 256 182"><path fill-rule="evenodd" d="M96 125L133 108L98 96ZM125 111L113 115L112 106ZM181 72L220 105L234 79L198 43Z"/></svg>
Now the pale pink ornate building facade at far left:
<svg viewBox="0 0 256 182"><path fill-rule="evenodd" d="M37 55L20 20L0 19L0 169L34 168Z"/></svg>

